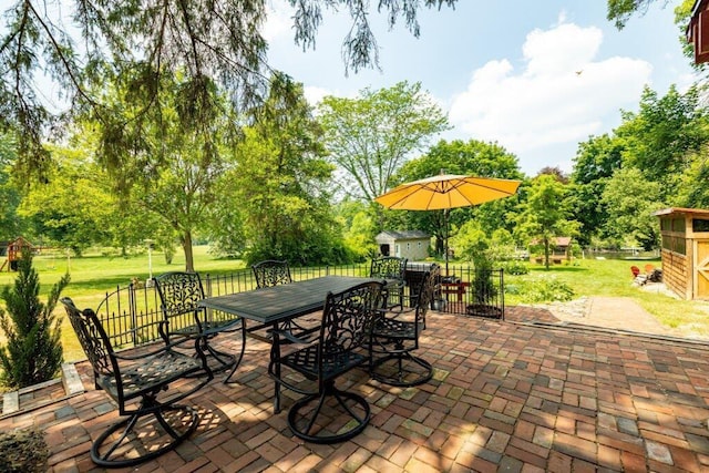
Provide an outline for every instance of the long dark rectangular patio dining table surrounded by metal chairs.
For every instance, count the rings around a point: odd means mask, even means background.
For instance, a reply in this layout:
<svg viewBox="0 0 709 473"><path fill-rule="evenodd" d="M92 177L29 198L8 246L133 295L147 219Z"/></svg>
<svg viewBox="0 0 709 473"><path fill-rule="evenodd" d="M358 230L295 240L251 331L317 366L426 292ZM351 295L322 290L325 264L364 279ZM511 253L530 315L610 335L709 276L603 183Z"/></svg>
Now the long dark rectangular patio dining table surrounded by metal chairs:
<svg viewBox="0 0 709 473"><path fill-rule="evenodd" d="M277 329L280 323L322 310L328 292L340 292L361 282L381 280L353 276L322 276L287 285L208 297L199 301L207 309L220 310ZM245 326L246 328L246 326ZM279 347L271 345L271 360ZM280 412L280 383L274 387L274 411Z"/></svg>

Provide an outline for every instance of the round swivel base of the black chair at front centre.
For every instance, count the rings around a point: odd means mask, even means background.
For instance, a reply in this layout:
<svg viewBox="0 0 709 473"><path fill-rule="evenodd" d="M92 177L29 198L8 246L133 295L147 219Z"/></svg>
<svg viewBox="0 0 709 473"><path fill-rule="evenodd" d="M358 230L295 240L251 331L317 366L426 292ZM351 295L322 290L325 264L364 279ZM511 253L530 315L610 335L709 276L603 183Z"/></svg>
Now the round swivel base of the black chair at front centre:
<svg viewBox="0 0 709 473"><path fill-rule="evenodd" d="M317 420L322 412L322 408L328 398L335 398L338 405L345 411L345 413L351 419L346 422L342 429L331 433L326 431L327 426L320 426L319 431L312 432L314 428L317 430ZM308 411L310 404L317 401L317 405L309 413L301 413L301 411ZM353 405L347 404L347 401L353 401ZM359 409L357 409L359 408ZM361 412L357 412L357 411ZM371 417L369 403L364 398L353 392L341 391L335 388L335 383L329 381L321 394L311 394L296 401L288 411L288 426L292 433L312 443L338 443L352 439L354 435L364 430L369 423ZM305 424L305 426L302 426Z"/></svg>

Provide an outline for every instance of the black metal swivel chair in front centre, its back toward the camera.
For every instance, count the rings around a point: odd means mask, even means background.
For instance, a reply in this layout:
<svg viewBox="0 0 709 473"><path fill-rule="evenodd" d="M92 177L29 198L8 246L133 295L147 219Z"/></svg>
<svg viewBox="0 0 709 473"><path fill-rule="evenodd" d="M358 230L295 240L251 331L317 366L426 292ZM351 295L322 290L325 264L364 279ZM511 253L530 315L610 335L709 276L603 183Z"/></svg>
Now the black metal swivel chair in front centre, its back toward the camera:
<svg viewBox="0 0 709 473"><path fill-rule="evenodd" d="M383 287L383 282L369 281L328 294L319 336L312 341L287 330L274 331L268 373L277 383L305 394L288 411L288 426L296 436L314 443L336 443L353 438L367 426L370 419L367 400L337 389L335 382L367 363L367 351L362 348L369 342L374 318L380 315ZM282 354L281 339L306 347ZM305 377L310 385L299 384L299 377L284 377L282 367ZM335 415L346 415L347 420L330 421Z"/></svg>

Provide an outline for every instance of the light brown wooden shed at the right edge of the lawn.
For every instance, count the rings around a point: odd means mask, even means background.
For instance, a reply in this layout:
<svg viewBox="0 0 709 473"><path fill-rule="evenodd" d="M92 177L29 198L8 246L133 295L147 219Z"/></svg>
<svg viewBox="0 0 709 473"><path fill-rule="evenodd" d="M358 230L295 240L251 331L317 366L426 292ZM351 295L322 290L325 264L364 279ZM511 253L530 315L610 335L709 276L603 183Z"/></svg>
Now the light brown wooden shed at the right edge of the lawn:
<svg viewBox="0 0 709 473"><path fill-rule="evenodd" d="M665 208L660 219L662 281L684 299L709 300L709 210Z"/></svg>

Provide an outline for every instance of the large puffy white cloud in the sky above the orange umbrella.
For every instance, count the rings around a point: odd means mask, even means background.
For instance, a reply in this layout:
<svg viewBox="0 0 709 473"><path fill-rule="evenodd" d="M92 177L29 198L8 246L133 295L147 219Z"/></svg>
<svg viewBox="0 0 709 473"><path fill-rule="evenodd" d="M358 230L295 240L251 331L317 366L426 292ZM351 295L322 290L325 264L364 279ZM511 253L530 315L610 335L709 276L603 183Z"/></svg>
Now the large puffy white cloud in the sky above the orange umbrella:
<svg viewBox="0 0 709 473"><path fill-rule="evenodd" d="M597 59L602 42L595 27L563 23L532 31L522 47L523 69L501 59L474 71L467 90L453 97L451 123L517 155L609 131L604 120L638 103L653 66L631 58Z"/></svg>

